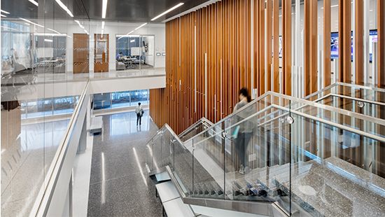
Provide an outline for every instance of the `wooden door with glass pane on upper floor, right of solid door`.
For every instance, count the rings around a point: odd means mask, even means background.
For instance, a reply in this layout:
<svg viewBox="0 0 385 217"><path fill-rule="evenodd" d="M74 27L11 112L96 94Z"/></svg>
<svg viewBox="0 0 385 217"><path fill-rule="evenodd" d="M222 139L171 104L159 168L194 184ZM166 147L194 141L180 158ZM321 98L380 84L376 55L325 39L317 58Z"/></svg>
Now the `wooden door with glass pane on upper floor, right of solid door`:
<svg viewBox="0 0 385 217"><path fill-rule="evenodd" d="M94 34L94 72L109 71L109 34Z"/></svg>

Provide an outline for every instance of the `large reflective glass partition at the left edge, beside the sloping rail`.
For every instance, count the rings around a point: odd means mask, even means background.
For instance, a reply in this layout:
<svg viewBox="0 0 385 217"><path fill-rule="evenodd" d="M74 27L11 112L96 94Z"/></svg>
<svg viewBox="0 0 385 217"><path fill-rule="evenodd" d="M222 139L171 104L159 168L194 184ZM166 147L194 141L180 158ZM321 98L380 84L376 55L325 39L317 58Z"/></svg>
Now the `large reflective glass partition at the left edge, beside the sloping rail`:
<svg viewBox="0 0 385 217"><path fill-rule="evenodd" d="M87 83L73 82L72 71L88 65L87 49L73 64L73 46L74 34L89 41L89 20L75 1L61 2L66 10L57 1L1 2L9 13L1 18L1 216L34 215Z"/></svg>

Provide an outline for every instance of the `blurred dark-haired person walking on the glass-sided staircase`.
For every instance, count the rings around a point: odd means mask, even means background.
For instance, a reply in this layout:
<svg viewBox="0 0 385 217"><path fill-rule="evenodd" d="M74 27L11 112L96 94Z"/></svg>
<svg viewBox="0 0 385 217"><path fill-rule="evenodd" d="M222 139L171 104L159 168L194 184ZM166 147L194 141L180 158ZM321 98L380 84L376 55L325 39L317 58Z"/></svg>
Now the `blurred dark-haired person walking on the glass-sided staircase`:
<svg viewBox="0 0 385 217"><path fill-rule="evenodd" d="M251 102L251 97L248 94L246 88L242 88L241 90L239 90L238 95L240 101L239 103L237 103L237 105L235 105L233 113L237 113L242 107L246 106L249 102ZM248 106L247 108L237 113L235 116L232 117L232 125L235 125L241 120L244 120L244 118L248 118L248 116L251 116L254 113L254 110L254 106ZM233 128L233 136L235 136L235 150L237 152L239 160L241 161L239 173L245 174L245 170L248 170L248 167L246 165L246 148L251 140L251 137L253 136L253 123L250 120L247 120L244 123L235 125Z"/></svg>

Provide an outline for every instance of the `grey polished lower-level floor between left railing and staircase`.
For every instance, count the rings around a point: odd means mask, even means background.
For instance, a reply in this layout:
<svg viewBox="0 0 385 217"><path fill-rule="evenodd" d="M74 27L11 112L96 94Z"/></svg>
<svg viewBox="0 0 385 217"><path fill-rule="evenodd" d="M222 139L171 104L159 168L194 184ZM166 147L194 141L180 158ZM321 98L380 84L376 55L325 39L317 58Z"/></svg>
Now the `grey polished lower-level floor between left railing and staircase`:
<svg viewBox="0 0 385 217"><path fill-rule="evenodd" d="M162 216L155 183L146 172L146 144L158 127L145 110L103 116L94 136L87 216Z"/></svg>

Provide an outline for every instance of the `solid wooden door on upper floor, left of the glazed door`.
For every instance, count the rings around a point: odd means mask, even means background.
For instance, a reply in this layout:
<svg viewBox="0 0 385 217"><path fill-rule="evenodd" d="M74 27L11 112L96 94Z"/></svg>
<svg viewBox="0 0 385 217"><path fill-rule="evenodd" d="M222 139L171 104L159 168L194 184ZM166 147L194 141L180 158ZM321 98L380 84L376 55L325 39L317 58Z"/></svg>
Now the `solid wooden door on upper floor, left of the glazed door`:
<svg viewBox="0 0 385 217"><path fill-rule="evenodd" d="M73 73L89 72L88 39L87 34L73 34Z"/></svg>

